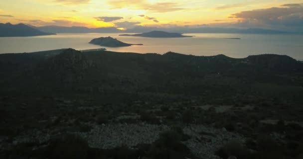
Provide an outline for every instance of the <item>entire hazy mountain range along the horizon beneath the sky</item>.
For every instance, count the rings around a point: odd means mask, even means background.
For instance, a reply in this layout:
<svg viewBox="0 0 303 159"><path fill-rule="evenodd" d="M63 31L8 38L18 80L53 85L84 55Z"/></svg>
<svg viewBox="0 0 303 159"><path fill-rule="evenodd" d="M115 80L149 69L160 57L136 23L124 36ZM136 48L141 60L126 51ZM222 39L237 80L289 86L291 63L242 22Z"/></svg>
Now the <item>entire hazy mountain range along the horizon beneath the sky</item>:
<svg viewBox="0 0 303 159"><path fill-rule="evenodd" d="M11 24L0 23L0 37L13 37L13 36L40 36L40 35L53 35L55 33L142 33L152 31L165 31L174 33L236 33L236 34L288 34L293 32L262 29L262 28L211 28L211 27L171 27L171 28L158 28L158 27L145 27L135 26L128 30L120 30L115 27L100 27L88 28L82 26L41 26L36 27L25 24Z"/></svg>

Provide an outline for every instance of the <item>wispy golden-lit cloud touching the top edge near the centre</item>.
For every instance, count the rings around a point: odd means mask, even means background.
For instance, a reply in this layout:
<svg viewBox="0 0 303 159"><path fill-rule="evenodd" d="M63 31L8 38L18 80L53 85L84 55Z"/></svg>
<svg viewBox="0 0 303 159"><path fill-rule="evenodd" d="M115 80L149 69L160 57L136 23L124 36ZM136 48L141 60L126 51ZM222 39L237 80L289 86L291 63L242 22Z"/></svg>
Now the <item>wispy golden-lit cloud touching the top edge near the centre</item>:
<svg viewBox="0 0 303 159"><path fill-rule="evenodd" d="M185 9L180 7L180 4L176 2L150 3L147 0L109 0L108 3L114 8L129 7L150 10L152 12L171 12Z"/></svg>

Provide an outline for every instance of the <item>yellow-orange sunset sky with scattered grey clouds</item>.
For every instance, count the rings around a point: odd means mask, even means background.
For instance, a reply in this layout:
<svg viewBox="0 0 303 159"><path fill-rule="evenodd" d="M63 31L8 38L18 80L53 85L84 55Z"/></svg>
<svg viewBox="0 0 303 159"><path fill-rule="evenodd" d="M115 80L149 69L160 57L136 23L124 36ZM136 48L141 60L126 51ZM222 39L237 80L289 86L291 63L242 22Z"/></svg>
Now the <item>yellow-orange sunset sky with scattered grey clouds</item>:
<svg viewBox="0 0 303 159"><path fill-rule="evenodd" d="M0 22L303 31L303 0L0 0Z"/></svg>

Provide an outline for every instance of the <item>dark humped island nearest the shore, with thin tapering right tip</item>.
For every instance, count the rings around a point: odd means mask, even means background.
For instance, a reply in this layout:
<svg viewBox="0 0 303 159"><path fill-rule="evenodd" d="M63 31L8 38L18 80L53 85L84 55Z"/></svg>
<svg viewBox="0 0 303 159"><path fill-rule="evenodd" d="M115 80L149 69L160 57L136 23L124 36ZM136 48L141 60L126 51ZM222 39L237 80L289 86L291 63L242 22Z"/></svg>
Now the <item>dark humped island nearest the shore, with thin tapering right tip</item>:
<svg viewBox="0 0 303 159"><path fill-rule="evenodd" d="M128 44L124 43L122 41L119 41L117 39L114 39L112 37L100 37L93 39L89 42L90 44L94 45L100 45L100 46L105 46L105 47L126 47L126 46L132 46L132 45L143 45L143 44Z"/></svg>

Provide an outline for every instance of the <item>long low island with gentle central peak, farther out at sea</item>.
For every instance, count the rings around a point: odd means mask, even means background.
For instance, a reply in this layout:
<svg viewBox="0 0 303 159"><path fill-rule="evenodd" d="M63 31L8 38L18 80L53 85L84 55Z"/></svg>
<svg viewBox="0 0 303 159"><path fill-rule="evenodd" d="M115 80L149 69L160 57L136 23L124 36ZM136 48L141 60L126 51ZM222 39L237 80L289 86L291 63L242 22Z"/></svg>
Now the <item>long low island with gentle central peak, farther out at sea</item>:
<svg viewBox="0 0 303 159"><path fill-rule="evenodd" d="M181 33L169 33L165 31L151 31L142 34L121 34L119 36L141 36L141 37L149 37L149 38L185 38L185 37L193 37L193 36L185 36Z"/></svg>

